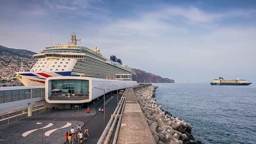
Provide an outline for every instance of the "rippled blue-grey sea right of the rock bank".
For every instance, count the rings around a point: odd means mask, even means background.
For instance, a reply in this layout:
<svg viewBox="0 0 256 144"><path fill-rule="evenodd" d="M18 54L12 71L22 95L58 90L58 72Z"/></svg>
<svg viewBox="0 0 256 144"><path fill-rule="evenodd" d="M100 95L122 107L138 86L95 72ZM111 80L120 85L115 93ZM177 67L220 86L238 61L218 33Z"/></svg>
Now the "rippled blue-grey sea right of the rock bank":
<svg viewBox="0 0 256 144"><path fill-rule="evenodd" d="M155 100L205 144L256 143L256 85L154 83Z"/></svg>

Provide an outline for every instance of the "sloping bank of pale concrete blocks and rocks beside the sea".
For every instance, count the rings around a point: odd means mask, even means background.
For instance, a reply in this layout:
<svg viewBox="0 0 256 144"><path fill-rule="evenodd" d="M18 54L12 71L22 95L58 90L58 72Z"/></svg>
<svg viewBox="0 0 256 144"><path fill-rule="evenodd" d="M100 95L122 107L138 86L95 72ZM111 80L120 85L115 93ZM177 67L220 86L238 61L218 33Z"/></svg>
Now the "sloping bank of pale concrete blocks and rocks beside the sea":
<svg viewBox="0 0 256 144"><path fill-rule="evenodd" d="M147 120L151 133L157 144L194 144L190 124L181 121L178 117L172 117L169 112L161 109L161 106L153 99L155 86L147 85L134 88L138 103Z"/></svg>

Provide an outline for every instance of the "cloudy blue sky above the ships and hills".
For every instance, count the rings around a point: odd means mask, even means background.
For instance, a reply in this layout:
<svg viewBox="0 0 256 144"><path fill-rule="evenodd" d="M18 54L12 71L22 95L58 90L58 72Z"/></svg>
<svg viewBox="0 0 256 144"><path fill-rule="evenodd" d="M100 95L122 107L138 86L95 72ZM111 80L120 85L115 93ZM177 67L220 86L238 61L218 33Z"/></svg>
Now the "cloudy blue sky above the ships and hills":
<svg viewBox="0 0 256 144"><path fill-rule="evenodd" d="M255 18L256 1L2 0L0 45L40 52L75 32L105 57L176 82L256 82Z"/></svg>

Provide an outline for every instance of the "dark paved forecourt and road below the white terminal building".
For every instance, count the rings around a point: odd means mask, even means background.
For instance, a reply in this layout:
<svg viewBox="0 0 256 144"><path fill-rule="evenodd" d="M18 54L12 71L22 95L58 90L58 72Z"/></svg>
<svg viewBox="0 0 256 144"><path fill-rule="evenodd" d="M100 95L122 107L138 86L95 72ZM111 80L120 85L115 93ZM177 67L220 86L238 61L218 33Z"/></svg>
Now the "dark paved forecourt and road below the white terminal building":
<svg viewBox="0 0 256 144"><path fill-rule="evenodd" d="M119 95L119 99L121 96ZM105 108L106 113L106 124L110 119L111 114L114 112L114 109L117 106L116 95L113 95L113 98L109 98L106 101L109 101ZM94 105L95 107L95 105ZM96 111L99 107L103 107L103 101L99 103L96 107ZM103 132L103 118L104 114L97 113L91 107L91 112L86 113L86 109L79 109L79 117L76 109L71 110L50 110L45 113L34 115L30 118L24 118L17 122L13 122L9 125L0 126L0 143L42 143L42 131L36 130L26 137L22 137L22 134L26 131L38 129L41 126L37 125L37 122L42 122L43 127L49 123L53 123L53 126L43 129L43 133L49 130L57 129L52 132L49 136L43 135L44 143L51 144L60 144L66 141L65 133L70 131L71 127L76 129L78 124L84 123L82 131L87 127L89 130L89 137L86 142L83 143L97 143L99 137ZM70 126L61 128L67 123L71 123ZM61 129L60 129L61 128ZM78 143L78 141L76 142Z"/></svg>

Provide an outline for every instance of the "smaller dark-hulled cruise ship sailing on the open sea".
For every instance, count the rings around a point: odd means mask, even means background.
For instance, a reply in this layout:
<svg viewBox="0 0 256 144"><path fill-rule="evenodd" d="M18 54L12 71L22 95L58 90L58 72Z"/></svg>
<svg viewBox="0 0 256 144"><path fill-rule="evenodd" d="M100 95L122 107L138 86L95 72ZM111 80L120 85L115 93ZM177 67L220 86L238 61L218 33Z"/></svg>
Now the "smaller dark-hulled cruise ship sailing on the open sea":
<svg viewBox="0 0 256 144"><path fill-rule="evenodd" d="M250 85L251 82L247 82L246 80L244 79L239 79L239 78L236 78L236 79L233 79L233 80L226 80L222 77L219 77L217 79L213 79L211 81L211 85L236 85L236 86L242 86L242 85Z"/></svg>

